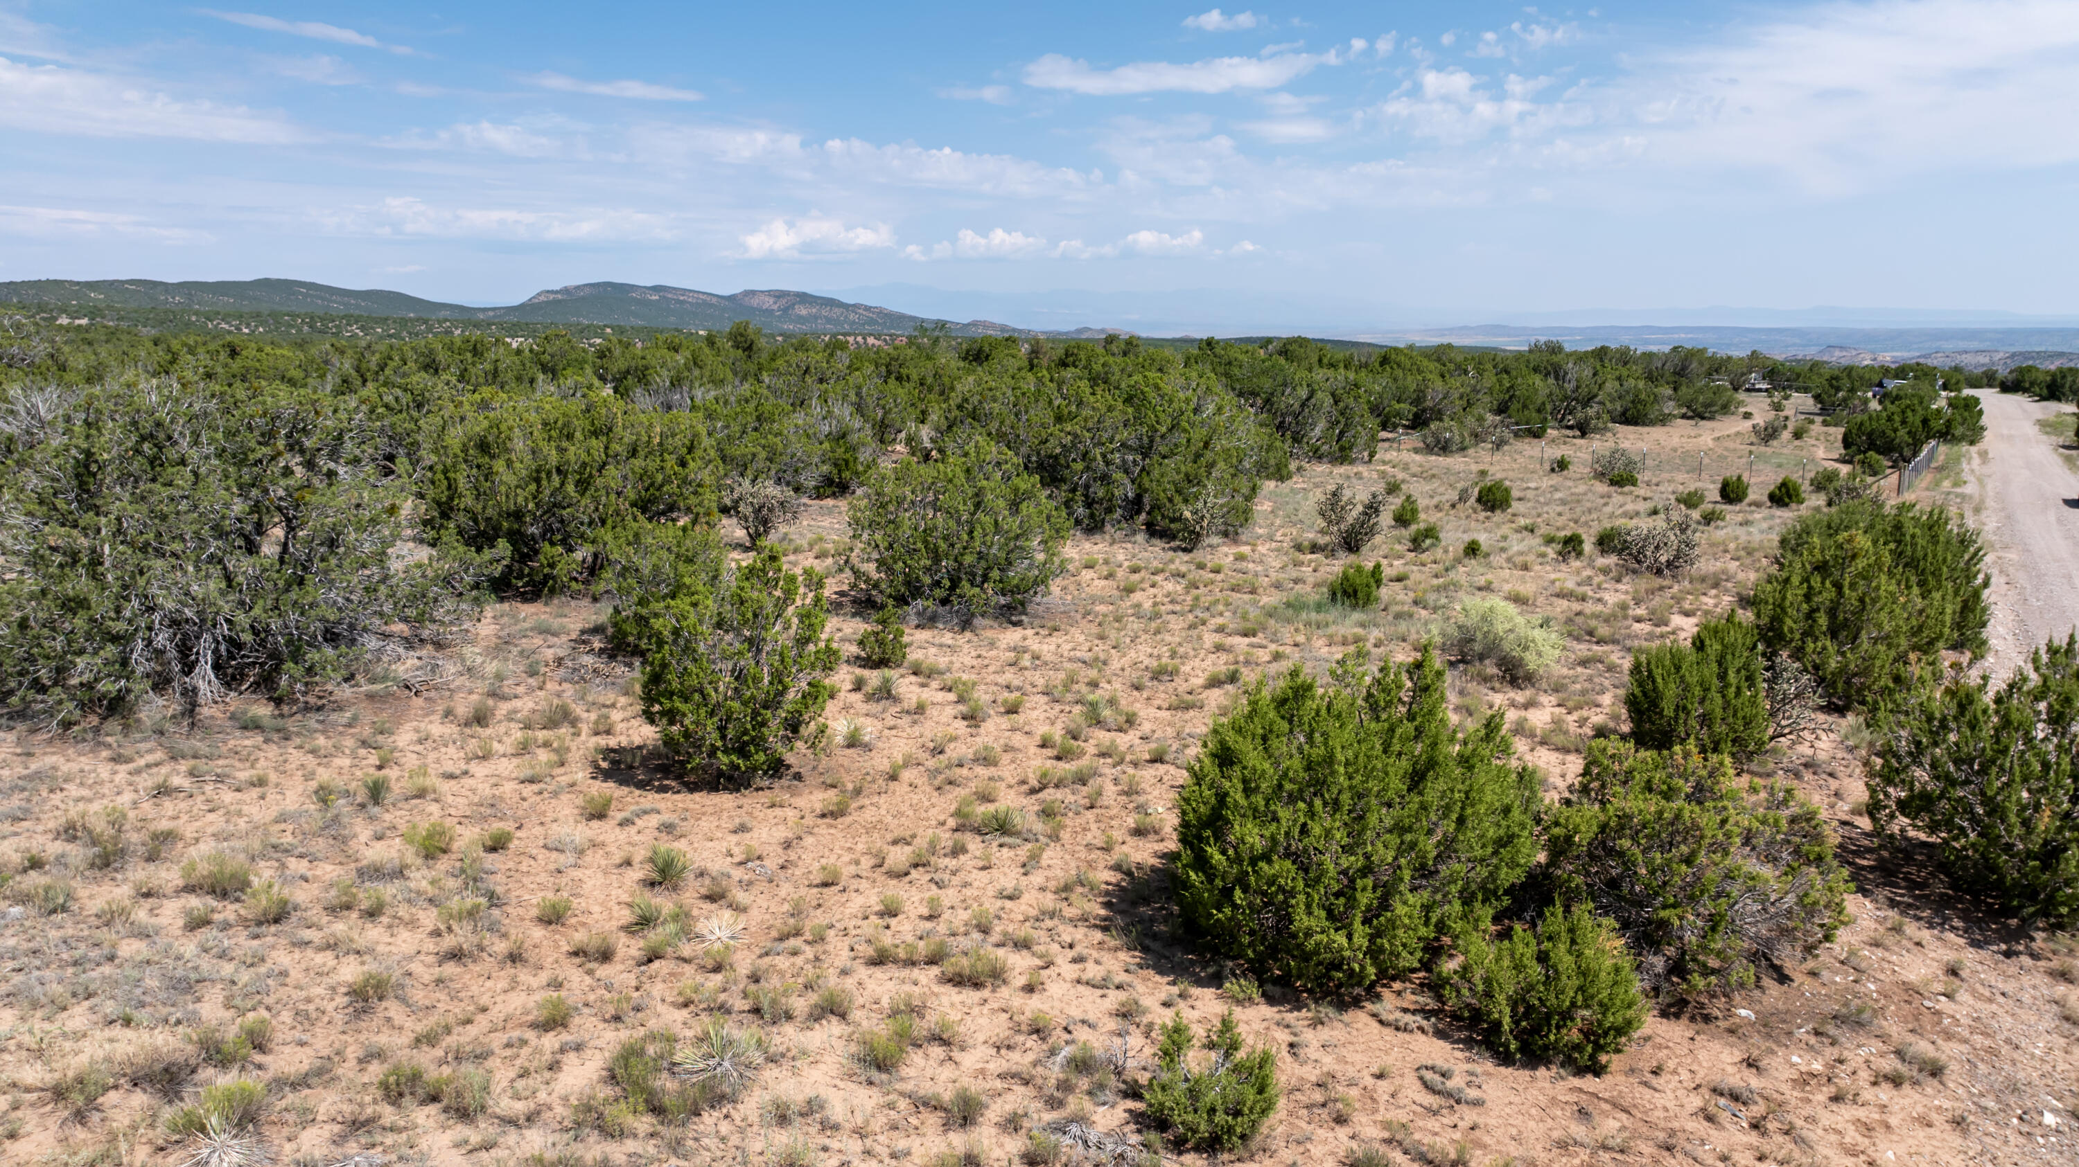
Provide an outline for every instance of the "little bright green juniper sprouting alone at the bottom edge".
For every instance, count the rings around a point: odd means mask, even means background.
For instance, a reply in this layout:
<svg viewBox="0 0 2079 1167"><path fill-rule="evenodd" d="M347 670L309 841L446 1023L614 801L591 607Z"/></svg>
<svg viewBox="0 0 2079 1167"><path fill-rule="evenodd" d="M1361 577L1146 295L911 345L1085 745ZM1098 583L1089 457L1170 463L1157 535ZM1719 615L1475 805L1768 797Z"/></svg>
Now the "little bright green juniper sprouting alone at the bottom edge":
<svg viewBox="0 0 2079 1167"><path fill-rule="evenodd" d="M1260 1047L1243 1053L1233 1009L1206 1034L1210 1063L1191 1065L1193 1044L1183 1013L1162 1026L1158 1065L1141 1088L1141 1105L1179 1146L1235 1150L1256 1138L1279 1109L1277 1051Z"/></svg>

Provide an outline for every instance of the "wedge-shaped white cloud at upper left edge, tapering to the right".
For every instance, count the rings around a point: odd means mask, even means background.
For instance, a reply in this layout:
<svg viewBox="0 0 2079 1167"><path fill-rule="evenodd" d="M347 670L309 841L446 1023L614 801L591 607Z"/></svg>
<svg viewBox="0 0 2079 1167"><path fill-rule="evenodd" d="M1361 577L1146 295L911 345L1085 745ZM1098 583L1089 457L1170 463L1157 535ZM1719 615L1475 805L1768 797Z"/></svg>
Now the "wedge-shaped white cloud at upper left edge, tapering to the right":
<svg viewBox="0 0 2079 1167"><path fill-rule="evenodd" d="M279 145L304 135L274 114L177 100L133 81L0 56L0 125L87 137L181 137Z"/></svg>

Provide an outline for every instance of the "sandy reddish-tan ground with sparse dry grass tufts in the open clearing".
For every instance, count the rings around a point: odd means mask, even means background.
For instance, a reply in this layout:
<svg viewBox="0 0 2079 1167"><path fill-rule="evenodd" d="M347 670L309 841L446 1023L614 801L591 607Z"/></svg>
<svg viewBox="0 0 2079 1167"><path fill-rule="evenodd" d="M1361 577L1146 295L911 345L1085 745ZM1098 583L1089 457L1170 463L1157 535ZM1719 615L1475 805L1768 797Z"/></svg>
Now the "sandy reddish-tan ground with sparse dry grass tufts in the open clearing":
<svg viewBox="0 0 2079 1167"><path fill-rule="evenodd" d="M857 741L798 756L761 791L688 789L657 764L626 662L601 652L601 613L578 602L497 606L474 644L322 708L19 733L0 752L0 1161L177 1163L166 1117L245 1076L266 1084L260 1134L293 1167L1015 1163L1033 1128L1069 1119L1137 1138L1139 1107L1096 1055L1123 1038L1141 1074L1170 1011L1208 1024L1227 1007L1279 1049L1285 1086L1252 1163L1339 1165L1383 1140L1393 1163L2073 1161L2071 1128L2046 1115L2064 1123L2079 1105L2079 1005L2064 999L2079 949L2031 941L1929 883L1925 864L1879 853L1857 816L1850 725L1769 764L1827 808L1861 889L1854 924L1751 993L1655 1015L1603 1078L1495 1063L1420 980L1233 1001L1229 970L1166 907L1170 804L1235 700L1229 671L1320 669L1360 644L1407 658L1462 598L1507 596L1565 631L1565 658L1522 687L1453 664L1453 706L1503 710L1559 789L1584 737L1622 725L1630 650L1736 604L1788 515L1732 509L1674 581L1561 563L1543 536L1709 492L1751 457L1759 496L1832 457L1836 436L1755 449L1738 419L1626 432L1651 444L1640 490L1584 480L1588 442L1563 438L1549 451L1574 459L1563 476L1543 471L1534 442L1387 451L1270 484L1239 540L1195 554L1077 538L1075 573L1031 619L913 631L913 664L884 700L846 664L827 716ZM1516 484L1511 511L1457 503L1480 471ZM1378 610L1308 604L1339 565L1304 550L1312 500L1389 476L1445 546L1416 554L1389 530L1370 550L1391 573ZM786 538L792 565L836 567L842 505L813 505ZM1486 554L1464 559L1468 538ZM840 604L846 652L861 627ZM1073 766L1087 768L1064 783ZM389 781L383 799L372 775ZM1033 829L983 837L954 814L963 797L1017 806ZM449 851L407 845L428 822L455 829ZM499 829L509 845L486 849ZM644 951L628 905L657 843L694 870L649 895L694 922L734 914L734 949ZM287 914L270 922L198 887L187 864L218 853L272 880ZM568 916L545 912L557 897ZM1000 955L1004 980L954 982L933 941ZM389 976L387 993L366 974ZM568 1022L545 1020L551 995ZM861 1042L898 1009L921 1038L875 1069ZM270 1040L222 1053L256 1015ZM624 1042L713 1017L771 1040L740 1101L684 1123L597 1121L620 1098L609 1059ZM220 1053L198 1063L212 1026ZM1909 1044L1942 1065L1913 1069ZM480 1074L489 1090L480 1105L385 1094L383 1076L407 1065ZM1422 1065L1474 1088L1435 1094ZM960 1086L985 1101L973 1125L946 1107Z"/></svg>

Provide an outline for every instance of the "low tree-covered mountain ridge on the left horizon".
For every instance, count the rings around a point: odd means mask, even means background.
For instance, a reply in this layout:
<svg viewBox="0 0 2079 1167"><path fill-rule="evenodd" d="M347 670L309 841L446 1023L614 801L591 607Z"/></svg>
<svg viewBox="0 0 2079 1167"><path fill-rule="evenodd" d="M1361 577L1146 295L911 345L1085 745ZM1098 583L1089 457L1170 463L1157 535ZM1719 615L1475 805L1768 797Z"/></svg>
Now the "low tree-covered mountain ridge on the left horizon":
<svg viewBox="0 0 2079 1167"><path fill-rule="evenodd" d="M1035 332L990 320L931 320L871 303L784 289L746 289L717 295L667 284L570 284L538 291L511 307L441 303L383 289L335 289L312 280L8 280L0 303L187 307L220 311L328 311L351 316L405 316L426 320L482 320L534 324L620 324L636 328L719 330L748 320L767 332L913 332L944 324L956 336L1031 336Z"/></svg>

